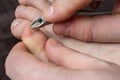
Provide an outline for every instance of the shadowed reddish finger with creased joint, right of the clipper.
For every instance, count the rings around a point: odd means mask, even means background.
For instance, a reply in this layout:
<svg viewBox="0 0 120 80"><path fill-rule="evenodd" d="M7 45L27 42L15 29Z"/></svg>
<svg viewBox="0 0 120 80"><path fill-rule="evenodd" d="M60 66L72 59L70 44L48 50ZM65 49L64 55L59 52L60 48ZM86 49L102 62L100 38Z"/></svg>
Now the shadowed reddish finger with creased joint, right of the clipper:
<svg viewBox="0 0 120 80"><path fill-rule="evenodd" d="M54 32L82 41L120 42L120 15L98 17L75 16L54 25Z"/></svg>

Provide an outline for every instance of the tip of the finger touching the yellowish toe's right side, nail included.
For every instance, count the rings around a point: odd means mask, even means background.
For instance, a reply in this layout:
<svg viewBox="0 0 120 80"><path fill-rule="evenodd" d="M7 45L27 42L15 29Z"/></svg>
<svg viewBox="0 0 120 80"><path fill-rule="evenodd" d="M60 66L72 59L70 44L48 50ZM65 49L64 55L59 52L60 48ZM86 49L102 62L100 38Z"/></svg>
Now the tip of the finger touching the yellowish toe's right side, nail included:
<svg viewBox="0 0 120 80"><path fill-rule="evenodd" d="M55 39L49 39L46 43L46 54L50 61L56 65L61 65L63 58L65 58L66 52L69 52L69 49L64 47L59 41Z"/></svg>

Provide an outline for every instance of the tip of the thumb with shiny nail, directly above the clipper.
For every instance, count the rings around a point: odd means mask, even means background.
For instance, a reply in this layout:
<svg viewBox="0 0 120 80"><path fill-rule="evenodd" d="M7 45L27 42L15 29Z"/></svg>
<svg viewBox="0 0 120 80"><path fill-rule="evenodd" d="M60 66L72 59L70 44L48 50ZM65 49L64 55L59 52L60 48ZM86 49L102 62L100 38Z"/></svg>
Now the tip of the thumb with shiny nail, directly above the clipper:
<svg viewBox="0 0 120 80"><path fill-rule="evenodd" d="M43 17L48 22L60 22L68 19L73 13L60 9L60 6L54 3L43 11Z"/></svg>

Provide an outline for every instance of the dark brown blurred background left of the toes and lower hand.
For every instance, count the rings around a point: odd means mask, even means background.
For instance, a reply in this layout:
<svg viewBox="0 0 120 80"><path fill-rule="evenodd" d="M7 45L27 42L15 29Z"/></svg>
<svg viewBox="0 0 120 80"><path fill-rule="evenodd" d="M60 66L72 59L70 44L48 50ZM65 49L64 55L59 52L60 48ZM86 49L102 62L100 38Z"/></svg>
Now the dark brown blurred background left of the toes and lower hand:
<svg viewBox="0 0 120 80"><path fill-rule="evenodd" d="M17 0L0 0L0 80L10 80L5 75L4 62L11 48L18 41L10 31Z"/></svg>

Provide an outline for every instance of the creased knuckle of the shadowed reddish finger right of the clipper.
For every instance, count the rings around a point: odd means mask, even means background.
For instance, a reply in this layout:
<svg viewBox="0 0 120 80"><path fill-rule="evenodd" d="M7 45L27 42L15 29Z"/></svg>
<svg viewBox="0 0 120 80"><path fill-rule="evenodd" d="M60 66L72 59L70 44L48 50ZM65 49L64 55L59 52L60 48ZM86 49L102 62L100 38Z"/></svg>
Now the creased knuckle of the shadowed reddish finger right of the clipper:
<svg viewBox="0 0 120 80"><path fill-rule="evenodd" d="M68 35L82 41L93 41L94 24L81 23L81 26L70 27Z"/></svg>

